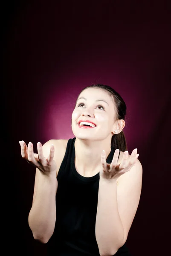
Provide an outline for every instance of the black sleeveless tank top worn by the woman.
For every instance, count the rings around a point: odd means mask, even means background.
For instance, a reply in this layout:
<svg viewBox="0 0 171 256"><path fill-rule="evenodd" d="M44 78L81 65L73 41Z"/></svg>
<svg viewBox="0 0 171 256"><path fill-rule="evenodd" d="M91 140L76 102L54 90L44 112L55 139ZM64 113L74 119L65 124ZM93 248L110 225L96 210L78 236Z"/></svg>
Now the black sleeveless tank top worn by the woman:
<svg viewBox="0 0 171 256"><path fill-rule="evenodd" d="M47 243L49 256L100 256L95 236L99 173L83 177L76 171L75 139L68 140L57 176L56 223ZM111 147L107 163L111 163L114 151ZM130 256L126 244L115 256Z"/></svg>

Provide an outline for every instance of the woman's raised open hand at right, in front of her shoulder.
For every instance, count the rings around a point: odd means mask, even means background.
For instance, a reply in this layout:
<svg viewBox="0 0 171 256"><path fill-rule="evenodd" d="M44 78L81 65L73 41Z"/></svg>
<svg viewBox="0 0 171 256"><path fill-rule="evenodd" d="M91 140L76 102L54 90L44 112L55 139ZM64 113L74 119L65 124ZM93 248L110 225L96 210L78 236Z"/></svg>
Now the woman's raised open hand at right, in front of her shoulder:
<svg viewBox="0 0 171 256"><path fill-rule="evenodd" d="M139 157L139 154L137 154L137 148L135 148L132 151L132 154L130 155L129 160L128 160L129 153L128 151L125 151L123 154L121 163L118 164L119 149L116 149L113 155L112 162L106 163L106 153L105 151L103 152L101 154L102 168L100 171L100 177L104 179L109 179L109 180L117 179L119 176L121 176L125 172L128 172L132 168L132 166L136 163L136 159Z"/></svg>

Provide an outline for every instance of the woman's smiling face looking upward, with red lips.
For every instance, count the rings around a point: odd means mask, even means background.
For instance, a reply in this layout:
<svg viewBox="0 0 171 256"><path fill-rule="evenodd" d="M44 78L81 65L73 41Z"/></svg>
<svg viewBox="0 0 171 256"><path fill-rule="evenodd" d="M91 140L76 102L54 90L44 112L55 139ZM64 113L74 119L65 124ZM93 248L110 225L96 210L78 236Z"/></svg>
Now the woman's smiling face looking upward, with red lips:
<svg viewBox="0 0 171 256"><path fill-rule="evenodd" d="M72 132L78 139L104 140L112 137L116 117L113 99L99 88L87 88L78 97L72 112ZM79 124L93 122L93 127ZM88 124L87 124L88 125Z"/></svg>

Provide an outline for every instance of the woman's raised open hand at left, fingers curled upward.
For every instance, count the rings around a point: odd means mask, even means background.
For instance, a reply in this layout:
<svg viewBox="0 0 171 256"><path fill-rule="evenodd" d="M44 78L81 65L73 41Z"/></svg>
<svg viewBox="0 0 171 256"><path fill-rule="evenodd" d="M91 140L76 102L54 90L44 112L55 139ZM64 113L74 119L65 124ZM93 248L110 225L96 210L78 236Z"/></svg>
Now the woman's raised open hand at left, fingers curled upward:
<svg viewBox="0 0 171 256"><path fill-rule="evenodd" d="M31 142L29 142L28 147L24 141L19 141L19 143L21 146L21 156L28 163L38 168L45 175L49 175L52 172L56 172L57 166L55 160L53 159L55 152L54 145L50 147L49 156L46 158L43 156L41 143L37 143L38 154L34 153L33 144Z"/></svg>

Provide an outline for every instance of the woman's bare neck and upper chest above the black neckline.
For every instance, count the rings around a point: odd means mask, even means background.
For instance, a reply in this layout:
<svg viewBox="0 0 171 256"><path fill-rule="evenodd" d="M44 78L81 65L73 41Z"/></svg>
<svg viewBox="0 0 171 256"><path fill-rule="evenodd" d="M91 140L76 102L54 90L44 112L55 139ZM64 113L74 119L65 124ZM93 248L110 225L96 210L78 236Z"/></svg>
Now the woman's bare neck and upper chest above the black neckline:
<svg viewBox="0 0 171 256"><path fill-rule="evenodd" d="M101 154L111 151L111 138L100 141L75 139L75 168L83 176L95 175L101 168Z"/></svg>

